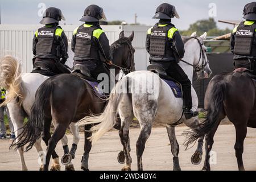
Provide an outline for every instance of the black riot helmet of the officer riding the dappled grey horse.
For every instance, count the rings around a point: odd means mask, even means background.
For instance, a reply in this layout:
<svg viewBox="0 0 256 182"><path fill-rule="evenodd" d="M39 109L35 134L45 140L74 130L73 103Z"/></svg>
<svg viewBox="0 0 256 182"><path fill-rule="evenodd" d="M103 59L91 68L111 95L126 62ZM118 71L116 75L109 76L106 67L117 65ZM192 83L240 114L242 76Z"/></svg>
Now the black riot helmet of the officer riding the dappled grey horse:
<svg viewBox="0 0 256 182"><path fill-rule="evenodd" d="M176 18L180 18L179 14L177 14L175 6L172 6L168 3L163 3L158 6L153 18L155 18L155 19L172 19L172 18L174 18L174 16Z"/></svg>

